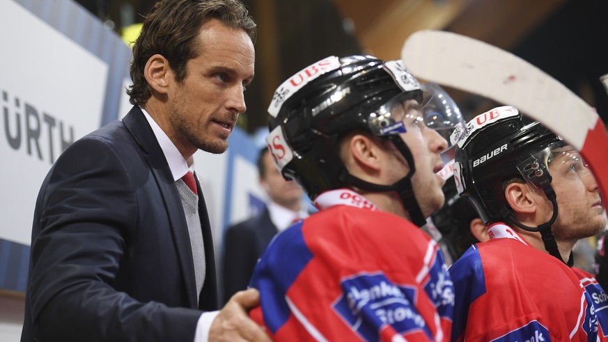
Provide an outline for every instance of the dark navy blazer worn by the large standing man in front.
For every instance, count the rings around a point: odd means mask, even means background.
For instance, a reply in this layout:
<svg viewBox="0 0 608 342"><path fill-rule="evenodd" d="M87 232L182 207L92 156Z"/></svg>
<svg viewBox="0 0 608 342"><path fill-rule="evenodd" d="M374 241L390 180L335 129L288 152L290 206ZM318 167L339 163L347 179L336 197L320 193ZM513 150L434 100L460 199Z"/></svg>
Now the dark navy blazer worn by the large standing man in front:
<svg viewBox="0 0 608 342"><path fill-rule="evenodd" d="M198 188L206 277L197 303L180 195L139 107L70 145L36 202L22 341L192 342L199 310L218 304Z"/></svg>

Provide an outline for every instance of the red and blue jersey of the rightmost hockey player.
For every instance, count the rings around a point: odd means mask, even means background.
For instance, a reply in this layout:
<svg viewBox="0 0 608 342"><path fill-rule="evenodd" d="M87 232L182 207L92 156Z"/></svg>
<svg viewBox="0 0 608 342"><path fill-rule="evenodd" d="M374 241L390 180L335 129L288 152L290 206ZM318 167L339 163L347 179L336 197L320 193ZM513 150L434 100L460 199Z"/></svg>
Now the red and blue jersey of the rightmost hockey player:
<svg viewBox="0 0 608 342"><path fill-rule="evenodd" d="M450 268L452 341L596 341L591 295L566 264L506 225Z"/></svg>

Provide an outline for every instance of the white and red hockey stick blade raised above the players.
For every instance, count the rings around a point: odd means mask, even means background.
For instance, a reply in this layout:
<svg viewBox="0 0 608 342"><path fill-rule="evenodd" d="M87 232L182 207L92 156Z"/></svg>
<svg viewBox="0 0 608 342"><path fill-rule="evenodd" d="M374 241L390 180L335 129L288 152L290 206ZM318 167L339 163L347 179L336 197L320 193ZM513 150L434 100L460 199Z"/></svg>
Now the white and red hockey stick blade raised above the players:
<svg viewBox="0 0 608 342"><path fill-rule="evenodd" d="M598 113L531 63L491 44L446 31L410 35L403 64L417 78L515 106L582 154L608 199L608 134Z"/></svg>

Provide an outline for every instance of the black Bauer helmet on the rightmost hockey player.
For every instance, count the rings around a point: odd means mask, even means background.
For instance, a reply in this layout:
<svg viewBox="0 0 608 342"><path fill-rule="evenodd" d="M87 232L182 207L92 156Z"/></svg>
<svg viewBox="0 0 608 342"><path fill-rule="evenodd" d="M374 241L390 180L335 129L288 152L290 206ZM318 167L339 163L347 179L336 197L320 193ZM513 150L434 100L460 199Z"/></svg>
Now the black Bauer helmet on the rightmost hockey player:
<svg viewBox="0 0 608 342"><path fill-rule="evenodd" d="M540 231L549 253L561 260L551 233L558 213L549 165L566 158L582 174L588 169L577 152L539 122L532 122L512 106L502 106L474 117L455 149L454 180L483 222L510 222L527 231ZM562 161L561 163L564 163ZM564 164L566 165L566 164ZM553 204L553 216L538 227L515 219L506 201L508 181L525 181Z"/></svg>

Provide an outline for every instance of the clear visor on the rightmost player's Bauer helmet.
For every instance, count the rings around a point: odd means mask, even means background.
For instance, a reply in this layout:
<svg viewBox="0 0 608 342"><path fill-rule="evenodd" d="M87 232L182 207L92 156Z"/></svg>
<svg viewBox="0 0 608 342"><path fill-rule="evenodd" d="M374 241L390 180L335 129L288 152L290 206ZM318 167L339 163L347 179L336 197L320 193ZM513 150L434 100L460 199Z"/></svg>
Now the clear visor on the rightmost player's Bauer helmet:
<svg viewBox="0 0 608 342"><path fill-rule="evenodd" d="M555 142L532 154L530 158L518 165L517 169L529 184L541 190L549 182L549 177L545 172L549 172L552 186L583 181L592 175L588 164L579 152L564 142Z"/></svg>

